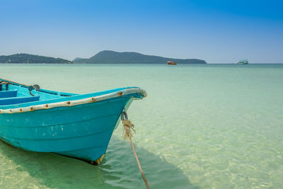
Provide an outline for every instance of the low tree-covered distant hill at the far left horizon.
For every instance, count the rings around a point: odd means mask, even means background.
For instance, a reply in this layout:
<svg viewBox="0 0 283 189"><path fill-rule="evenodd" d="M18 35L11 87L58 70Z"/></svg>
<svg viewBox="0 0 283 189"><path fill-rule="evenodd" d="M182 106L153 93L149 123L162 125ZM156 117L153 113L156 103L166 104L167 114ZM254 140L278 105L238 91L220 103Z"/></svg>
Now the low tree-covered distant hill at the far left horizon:
<svg viewBox="0 0 283 189"><path fill-rule="evenodd" d="M0 63L25 63L25 64L70 64L73 63L67 59L53 58L53 57L43 57L38 55L28 55L28 54L15 54L8 56L0 56Z"/></svg>

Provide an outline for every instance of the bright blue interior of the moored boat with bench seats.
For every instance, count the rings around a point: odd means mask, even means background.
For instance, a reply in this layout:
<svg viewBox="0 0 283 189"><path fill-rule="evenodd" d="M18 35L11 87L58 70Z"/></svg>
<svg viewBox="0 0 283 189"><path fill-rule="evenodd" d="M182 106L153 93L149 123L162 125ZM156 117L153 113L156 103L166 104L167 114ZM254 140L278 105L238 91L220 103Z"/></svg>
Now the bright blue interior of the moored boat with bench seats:
<svg viewBox="0 0 283 189"><path fill-rule="evenodd" d="M108 95L110 93L125 90L128 88L137 87L114 88L108 91L98 91L95 93L86 94L65 93L42 89L38 85L27 86L24 84L18 84L14 81L9 81L0 78L0 110L5 110L9 108L22 108L28 107L30 105L40 105L43 103L76 101L84 98ZM137 92L133 92L133 94L128 94L127 96L132 96L134 98L142 98L141 93ZM109 98L112 97L110 96Z"/></svg>

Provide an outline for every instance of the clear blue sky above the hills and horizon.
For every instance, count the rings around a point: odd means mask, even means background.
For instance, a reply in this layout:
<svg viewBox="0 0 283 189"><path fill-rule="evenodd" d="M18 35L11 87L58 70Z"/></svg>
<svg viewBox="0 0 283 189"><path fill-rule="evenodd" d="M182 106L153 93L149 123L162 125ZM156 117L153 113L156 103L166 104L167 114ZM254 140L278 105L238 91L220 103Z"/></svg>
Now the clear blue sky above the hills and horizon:
<svg viewBox="0 0 283 189"><path fill-rule="evenodd" d="M1 1L0 55L101 50L283 63L283 1Z"/></svg>

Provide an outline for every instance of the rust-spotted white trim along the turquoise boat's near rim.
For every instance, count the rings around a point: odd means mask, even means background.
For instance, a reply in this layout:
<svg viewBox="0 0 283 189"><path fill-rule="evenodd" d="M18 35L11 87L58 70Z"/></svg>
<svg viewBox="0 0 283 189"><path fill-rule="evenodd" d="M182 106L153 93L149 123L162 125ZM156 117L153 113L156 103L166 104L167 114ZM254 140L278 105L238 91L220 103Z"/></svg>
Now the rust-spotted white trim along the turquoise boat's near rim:
<svg viewBox="0 0 283 189"><path fill-rule="evenodd" d="M35 110L45 110L50 108L57 108L57 107L64 107L64 106L74 106L74 105L81 105L86 103L95 103L99 101L104 101L108 98L115 98L119 96L124 96L132 93L141 93L141 96L146 97L146 91L141 88L125 88L120 91L115 91L113 93L108 93L100 96L93 96L91 98L84 98L75 101L64 101L59 103L45 103L40 105L30 105L28 107L23 108L11 108L11 109L0 109L0 113L24 113L24 112L32 112Z"/></svg>

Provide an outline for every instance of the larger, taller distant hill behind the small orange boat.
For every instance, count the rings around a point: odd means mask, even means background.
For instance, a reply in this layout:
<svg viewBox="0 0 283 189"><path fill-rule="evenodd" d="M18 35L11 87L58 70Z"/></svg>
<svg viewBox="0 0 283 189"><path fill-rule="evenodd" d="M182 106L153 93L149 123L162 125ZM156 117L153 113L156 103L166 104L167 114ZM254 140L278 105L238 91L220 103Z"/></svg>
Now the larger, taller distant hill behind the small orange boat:
<svg viewBox="0 0 283 189"><path fill-rule="evenodd" d="M74 59L74 63L87 64L166 64L175 61L178 64L207 64L202 59L173 59L152 55L142 55L137 52L115 52L104 50L89 59Z"/></svg>

